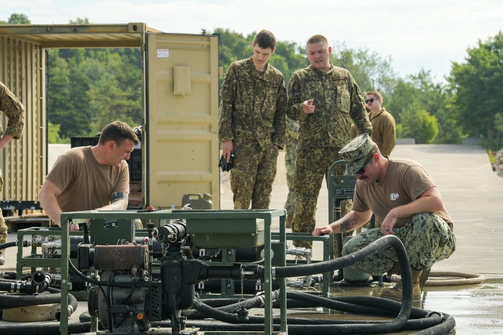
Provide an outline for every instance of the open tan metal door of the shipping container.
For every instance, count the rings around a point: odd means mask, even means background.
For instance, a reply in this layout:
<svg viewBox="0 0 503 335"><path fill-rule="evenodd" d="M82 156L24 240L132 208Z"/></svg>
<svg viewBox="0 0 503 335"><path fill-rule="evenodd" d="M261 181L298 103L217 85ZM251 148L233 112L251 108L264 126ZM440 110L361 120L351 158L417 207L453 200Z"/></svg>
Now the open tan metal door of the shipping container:
<svg viewBox="0 0 503 335"><path fill-rule="evenodd" d="M146 205L206 192L219 209L218 38L147 34L147 44Z"/></svg>

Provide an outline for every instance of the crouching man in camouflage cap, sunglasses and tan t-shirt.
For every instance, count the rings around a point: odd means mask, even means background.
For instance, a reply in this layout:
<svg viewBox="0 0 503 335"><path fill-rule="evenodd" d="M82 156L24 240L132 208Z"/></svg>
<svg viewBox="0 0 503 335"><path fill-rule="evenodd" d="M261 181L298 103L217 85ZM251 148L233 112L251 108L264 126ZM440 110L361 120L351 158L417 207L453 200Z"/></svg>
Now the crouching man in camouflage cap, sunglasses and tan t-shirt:
<svg viewBox="0 0 503 335"><path fill-rule="evenodd" d="M410 159L383 156L367 134L358 135L340 151L346 161L346 174L358 178L353 210L332 224L316 228L313 236L353 231L369 221L374 213L380 228L366 230L343 247L343 255L363 249L384 235L398 237L407 252L412 272L412 295L421 299L423 284L435 262L456 250L452 219L440 192L426 169ZM355 263L354 268L388 277L399 271L395 251L385 248ZM397 271L398 270L398 271ZM401 299L401 282L385 290L382 297Z"/></svg>

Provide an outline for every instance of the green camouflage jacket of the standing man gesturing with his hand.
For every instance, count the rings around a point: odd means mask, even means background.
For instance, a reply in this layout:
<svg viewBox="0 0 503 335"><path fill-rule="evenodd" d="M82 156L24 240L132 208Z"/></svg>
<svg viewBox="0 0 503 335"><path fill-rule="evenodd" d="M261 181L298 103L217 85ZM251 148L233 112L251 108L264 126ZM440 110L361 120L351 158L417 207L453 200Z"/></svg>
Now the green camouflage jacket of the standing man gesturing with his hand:
<svg viewBox="0 0 503 335"><path fill-rule="evenodd" d="M353 120L359 134L372 135L363 94L351 73L331 65L327 72L308 67L295 71L288 83L288 117L299 121L298 146L342 148L351 139ZM314 113L302 111L313 99Z"/></svg>

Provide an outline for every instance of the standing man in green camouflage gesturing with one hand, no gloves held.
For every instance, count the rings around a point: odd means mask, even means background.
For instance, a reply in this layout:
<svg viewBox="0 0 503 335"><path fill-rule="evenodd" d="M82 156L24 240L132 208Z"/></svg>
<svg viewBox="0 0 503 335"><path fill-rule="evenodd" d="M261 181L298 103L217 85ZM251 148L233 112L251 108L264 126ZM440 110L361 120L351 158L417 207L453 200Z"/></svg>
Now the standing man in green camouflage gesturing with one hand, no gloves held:
<svg viewBox="0 0 503 335"><path fill-rule="evenodd" d="M372 134L363 94L351 73L329 61L331 47L325 37L307 41L310 66L292 74L288 83L288 117L299 121L295 189L297 200L292 232L315 228L319 189L330 166L340 160L338 151L350 140L351 121L360 134ZM294 241L311 248L311 241Z"/></svg>

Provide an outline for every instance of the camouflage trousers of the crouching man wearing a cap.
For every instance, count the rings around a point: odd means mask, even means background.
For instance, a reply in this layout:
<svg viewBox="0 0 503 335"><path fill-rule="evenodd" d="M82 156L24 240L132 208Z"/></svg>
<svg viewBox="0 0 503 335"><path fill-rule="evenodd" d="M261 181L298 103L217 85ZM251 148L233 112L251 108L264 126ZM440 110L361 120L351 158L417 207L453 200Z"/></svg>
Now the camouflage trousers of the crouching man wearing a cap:
<svg viewBox="0 0 503 335"><path fill-rule="evenodd" d="M456 237L451 227L452 225L447 224L438 215L418 213L412 216L404 227L395 228L393 232L405 246L410 267L428 270L435 262L449 258L456 250ZM342 254L354 253L382 236L380 228L364 231L344 245ZM372 276L378 276L391 270L397 261L393 248L387 247L352 266Z"/></svg>

